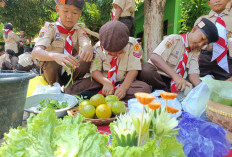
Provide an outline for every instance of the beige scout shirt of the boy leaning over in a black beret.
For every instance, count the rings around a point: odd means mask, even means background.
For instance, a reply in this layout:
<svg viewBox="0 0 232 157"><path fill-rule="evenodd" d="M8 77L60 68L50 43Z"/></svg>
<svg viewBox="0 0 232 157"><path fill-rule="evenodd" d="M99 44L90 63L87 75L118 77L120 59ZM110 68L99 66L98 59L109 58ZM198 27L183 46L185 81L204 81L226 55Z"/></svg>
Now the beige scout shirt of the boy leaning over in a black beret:
<svg viewBox="0 0 232 157"><path fill-rule="evenodd" d="M188 41L186 39L185 46L188 47ZM181 35L172 34L167 36L159 46L153 51L153 53L160 55L164 61L176 71L179 62L183 54L185 53L185 47L182 41ZM200 74L199 65L198 65L198 55L197 51L192 51L189 53L187 68L188 74ZM149 63L153 64L151 60L148 60ZM168 76L166 73L158 69L158 73L161 75Z"/></svg>

